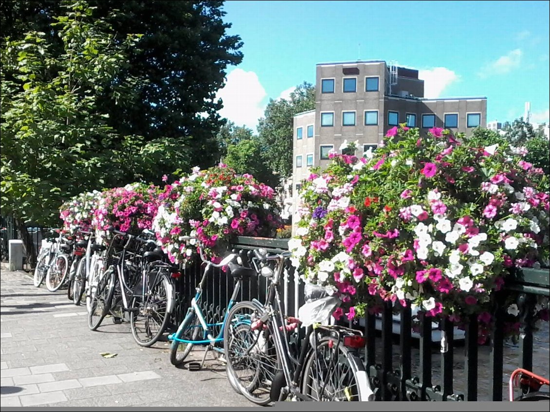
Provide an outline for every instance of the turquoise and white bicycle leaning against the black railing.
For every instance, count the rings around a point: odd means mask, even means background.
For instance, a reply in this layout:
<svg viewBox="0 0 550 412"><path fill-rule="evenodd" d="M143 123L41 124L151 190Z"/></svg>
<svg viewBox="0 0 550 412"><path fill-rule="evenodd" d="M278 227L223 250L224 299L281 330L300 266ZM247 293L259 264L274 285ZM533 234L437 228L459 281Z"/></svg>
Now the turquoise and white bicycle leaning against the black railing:
<svg viewBox="0 0 550 412"><path fill-rule="evenodd" d="M192 238L185 237L185 240ZM199 241L197 240L197 243ZM249 279L251 276L257 276L255 269L250 268L248 259L245 254L238 255L236 253L229 254L220 263L215 264L208 261L203 254L202 245L199 243L199 254L201 260L206 263L206 268L199 286L196 288L195 297L191 299L191 306L185 315L184 320L179 325L178 330L168 336L168 339L172 341L170 351L170 361L173 365L177 366L183 363L186 357L188 357L191 349L195 345L206 346L202 363L197 366L196 364L190 364L190 369L200 369L206 359L206 355L209 350L215 350L218 354L223 354L223 331L226 327L228 320L229 310L233 307L235 299L237 299L240 291L241 283L243 279ZM207 319L201 309L202 291L206 285L206 280L213 268L223 268L228 266L230 274L233 277L235 284L233 288L233 294L229 299L227 305L226 314L224 315L222 322L216 322L212 319ZM246 323L248 320L243 320ZM248 325L250 322L248 321ZM219 332L215 334L213 331Z"/></svg>

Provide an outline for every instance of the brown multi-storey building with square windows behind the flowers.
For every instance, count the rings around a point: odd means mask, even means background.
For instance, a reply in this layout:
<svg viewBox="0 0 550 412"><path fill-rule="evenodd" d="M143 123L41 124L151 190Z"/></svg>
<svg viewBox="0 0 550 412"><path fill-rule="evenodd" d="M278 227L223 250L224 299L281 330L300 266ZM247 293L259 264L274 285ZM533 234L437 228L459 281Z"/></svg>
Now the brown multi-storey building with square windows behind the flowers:
<svg viewBox="0 0 550 412"><path fill-rule="evenodd" d="M360 156L400 123L421 133L445 127L466 134L487 124L486 97L425 98L418 70L383 60L319 63L315 86L315 110L294 116L294 204L309 168L327 165L344 141L358 141Z"/></svg>

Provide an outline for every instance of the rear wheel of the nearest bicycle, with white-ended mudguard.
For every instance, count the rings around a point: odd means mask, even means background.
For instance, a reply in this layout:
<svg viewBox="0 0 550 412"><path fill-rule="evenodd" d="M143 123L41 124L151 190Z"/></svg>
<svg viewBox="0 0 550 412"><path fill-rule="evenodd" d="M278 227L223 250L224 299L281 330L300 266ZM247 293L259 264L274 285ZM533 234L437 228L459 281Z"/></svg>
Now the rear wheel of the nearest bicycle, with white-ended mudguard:
<svg viewBox="0 0 550 412"><path fill-rule="evenodd" d="M361 360L337 342L323 337L307 355L302 393L319 402L368 400L370 391Z"/></svg>

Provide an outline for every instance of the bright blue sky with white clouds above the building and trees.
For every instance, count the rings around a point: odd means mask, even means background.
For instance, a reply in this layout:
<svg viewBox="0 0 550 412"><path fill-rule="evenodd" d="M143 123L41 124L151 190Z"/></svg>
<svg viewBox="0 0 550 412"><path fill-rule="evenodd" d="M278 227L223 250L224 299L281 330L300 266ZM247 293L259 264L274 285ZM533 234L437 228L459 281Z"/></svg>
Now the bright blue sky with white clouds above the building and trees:
<svg viewBox="0 0 550 412"><path fill-rule="evenodd" d="M486 96L488 121L523 115L527 101L548 121L549 4L226 1L244 59L218 93L221 114L254 128L270 98L315 82L316 63L360 58L419 69L427 97Z"/></svg>

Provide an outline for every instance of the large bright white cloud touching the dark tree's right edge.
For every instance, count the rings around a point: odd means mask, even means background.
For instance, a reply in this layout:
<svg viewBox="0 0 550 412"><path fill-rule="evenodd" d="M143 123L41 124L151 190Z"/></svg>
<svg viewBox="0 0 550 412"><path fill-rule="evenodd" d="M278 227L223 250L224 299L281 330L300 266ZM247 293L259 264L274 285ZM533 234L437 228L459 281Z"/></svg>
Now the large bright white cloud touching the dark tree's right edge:
<svg viewBox="0 0 550 412"><path fill-rule="evenodd" d="M217 98L223 100L219 115L236 125L255 130L263 116L267 93L254 71L234 69L227 75L226 86L218 90Z"/></svg>

